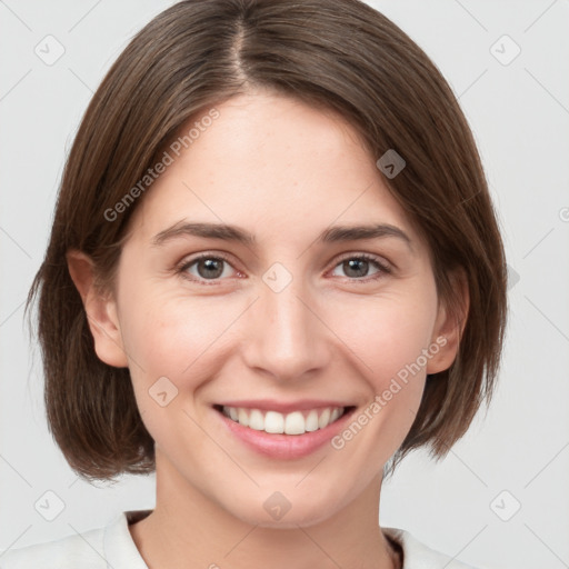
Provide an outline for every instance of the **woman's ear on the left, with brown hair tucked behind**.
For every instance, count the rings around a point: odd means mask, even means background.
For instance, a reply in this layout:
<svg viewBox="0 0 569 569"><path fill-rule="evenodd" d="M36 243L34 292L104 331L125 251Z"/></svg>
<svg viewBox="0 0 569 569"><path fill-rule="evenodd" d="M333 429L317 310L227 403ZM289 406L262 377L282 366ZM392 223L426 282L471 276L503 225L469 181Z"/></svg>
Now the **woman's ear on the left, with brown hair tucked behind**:
<svg viewBox="0 0 569 569"><path fill-rule="evenodd" d="M67 264L69 274L83 301L98 358L116 368L128 367L117 303L112 295L103 295L97 290L93 261L81 251L70 250L67 253Z"/></svg>

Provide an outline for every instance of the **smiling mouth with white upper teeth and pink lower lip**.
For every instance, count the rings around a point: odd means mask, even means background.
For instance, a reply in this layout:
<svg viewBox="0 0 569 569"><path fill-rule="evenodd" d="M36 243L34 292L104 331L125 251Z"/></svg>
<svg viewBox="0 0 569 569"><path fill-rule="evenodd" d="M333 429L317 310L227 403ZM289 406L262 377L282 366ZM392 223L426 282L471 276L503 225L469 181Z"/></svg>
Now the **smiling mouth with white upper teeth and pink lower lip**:
<svg viewBox="0 0 569 569"><path fill-rule="evenodd" d="M335 405L295 410L289 407L288 412L280 412L270 408L213 406L233 440L257 453L282 460L299 459L322 448L346 428L356 409Z"/></svg>

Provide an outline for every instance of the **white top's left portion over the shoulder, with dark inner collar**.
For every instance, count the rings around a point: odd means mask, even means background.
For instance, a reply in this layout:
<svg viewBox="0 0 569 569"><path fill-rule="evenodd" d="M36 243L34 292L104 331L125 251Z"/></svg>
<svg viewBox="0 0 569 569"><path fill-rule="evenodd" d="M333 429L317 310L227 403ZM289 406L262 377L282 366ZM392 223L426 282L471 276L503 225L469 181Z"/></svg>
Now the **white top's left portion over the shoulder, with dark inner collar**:
<svg viewBox="0 0 569 569"><path fill-rule="evenodd" d="M148 569L128 528L130 521L147 512L121 512L103 528L0 551L0 569Z"/></svg>

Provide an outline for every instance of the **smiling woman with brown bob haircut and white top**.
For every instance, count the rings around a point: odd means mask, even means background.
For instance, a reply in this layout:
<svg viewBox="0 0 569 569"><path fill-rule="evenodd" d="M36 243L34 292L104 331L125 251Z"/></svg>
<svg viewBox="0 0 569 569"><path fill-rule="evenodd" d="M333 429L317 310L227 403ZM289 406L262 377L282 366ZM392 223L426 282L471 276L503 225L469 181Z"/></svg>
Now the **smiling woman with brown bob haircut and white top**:
<svg viewBox="0 0 569 569"><path fill-rule="evenodd" d="M156 470L156 508L2 568L449 567L380 490L489 399L505 267L466 119L387 18L174 4L86 112L29 298L67 460Z"/></svg>

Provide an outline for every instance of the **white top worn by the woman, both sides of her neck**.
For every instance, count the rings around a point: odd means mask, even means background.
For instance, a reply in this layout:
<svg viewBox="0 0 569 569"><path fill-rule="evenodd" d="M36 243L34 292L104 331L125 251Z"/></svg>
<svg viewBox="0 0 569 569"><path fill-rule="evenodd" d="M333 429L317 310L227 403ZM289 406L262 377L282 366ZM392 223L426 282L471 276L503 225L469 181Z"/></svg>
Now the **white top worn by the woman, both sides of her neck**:
<svg viewBox="0 0 569 569"><path fill-rule="evenodd" d="M103 528L9 549L0 553L0 569L148 569L128 526L150 511L123 511ZM402 548L403 569L475 569L430 549L406 530L381 529Z"/></svg>

